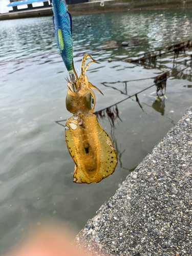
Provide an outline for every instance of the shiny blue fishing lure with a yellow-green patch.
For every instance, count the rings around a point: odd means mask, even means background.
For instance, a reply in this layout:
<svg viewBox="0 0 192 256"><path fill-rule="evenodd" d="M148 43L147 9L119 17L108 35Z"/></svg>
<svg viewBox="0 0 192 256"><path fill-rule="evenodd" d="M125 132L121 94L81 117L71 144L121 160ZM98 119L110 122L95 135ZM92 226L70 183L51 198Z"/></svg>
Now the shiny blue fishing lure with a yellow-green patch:
<svg viewBox="0 0 192 256"><path fill-rule="evenodd" d="M73 41L72 41L72 19L68 12L65 0L53 0L53 23L55 26L55 36L58 52L69 74L73 74Z"/></svg>

